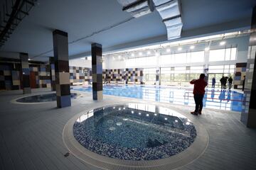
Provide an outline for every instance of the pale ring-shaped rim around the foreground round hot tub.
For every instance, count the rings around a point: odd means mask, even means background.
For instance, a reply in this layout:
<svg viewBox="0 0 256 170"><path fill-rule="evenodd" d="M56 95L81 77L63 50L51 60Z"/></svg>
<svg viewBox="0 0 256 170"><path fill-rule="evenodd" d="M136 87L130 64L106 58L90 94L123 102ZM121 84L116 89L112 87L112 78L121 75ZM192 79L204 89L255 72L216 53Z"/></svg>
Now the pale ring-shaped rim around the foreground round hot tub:
<svg viewBox="0 0 256 170"><path fill-rule="evenodd" d="M133 102L130 102L133 103ZM141 103L141 102L139 102ZM121 104L125 104L124 102L114 104L114 105L104 105L100 107L108 107L108 106L119 106ZM171 108L171 106L164 106L166 108ZM75 140L73 135L73 125L75 121L81 116L92 110L93 108L99 107L91 107L86 109L86 111L82 111L78 113L73 118L68 120L64 129L63 129L63 142L65 147L68 148L70 153L78 157L78 159L85 162L93 167L97 167L99 169L177 169L182 166L186 166L191 162L201 157L201 154L205 152L208 147L208 133L206 129L198 122L198 120L193 120L193 125L196 127L197 136L195 141L191 144L183 152L175 154L174 156L164 158L164 159L156 159L156 160L148 160L148 161L132 161L132 160L123 160L123 159L114 159L110 157L105 157L100 154L96 154L95 152L91 152L90 150L82 147L80 143ZM176 110L175 108L171 108ZM189 118L191 115L186 115Z"/></svg>

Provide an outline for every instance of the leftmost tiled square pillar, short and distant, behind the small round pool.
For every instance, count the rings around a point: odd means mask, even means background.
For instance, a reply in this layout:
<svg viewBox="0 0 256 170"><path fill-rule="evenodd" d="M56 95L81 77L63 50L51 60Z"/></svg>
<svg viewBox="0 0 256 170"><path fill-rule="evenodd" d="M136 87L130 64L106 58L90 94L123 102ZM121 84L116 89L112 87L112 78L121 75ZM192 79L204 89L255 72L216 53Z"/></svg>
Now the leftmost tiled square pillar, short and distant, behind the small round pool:
<svg viewBox="0 0 256 170"><path fill-rule="evenodd" d="M21 59L21 81L23 94L31 94L30 70L28 66L28 53L19 53Z"/></svg>

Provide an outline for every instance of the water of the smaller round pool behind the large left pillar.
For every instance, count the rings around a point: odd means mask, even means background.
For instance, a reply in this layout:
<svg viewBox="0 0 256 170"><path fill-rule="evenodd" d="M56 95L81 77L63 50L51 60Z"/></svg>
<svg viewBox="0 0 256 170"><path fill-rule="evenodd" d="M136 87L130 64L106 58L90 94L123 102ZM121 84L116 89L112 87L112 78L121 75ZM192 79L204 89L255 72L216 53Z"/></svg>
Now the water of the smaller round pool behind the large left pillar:
<svg viewBox="0 0 256 170"><path fill-rule="evenodd" d="M80 94L71 93L71 98L77 98ZM16 102L21 103L41 103L41 102L49 102L49 101L56 101L56 94L38 94L34 96L26 96L23 98L18 98Z"/></svg>

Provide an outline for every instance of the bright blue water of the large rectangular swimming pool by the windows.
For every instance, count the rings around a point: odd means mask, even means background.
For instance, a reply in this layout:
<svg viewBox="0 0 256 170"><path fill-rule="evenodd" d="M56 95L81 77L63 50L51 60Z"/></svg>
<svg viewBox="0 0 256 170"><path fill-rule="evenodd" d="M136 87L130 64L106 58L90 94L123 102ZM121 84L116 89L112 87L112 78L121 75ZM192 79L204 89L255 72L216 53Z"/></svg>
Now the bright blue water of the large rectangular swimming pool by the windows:
<svg viewBox="0 0 256 170"><path fill-rule="evenodd" d="M73 86L73 90L92 92L91 86ZM105 85L103 94L128 98L142 98L149 101L159 101L194 106L193 89L178 89L167 86L138 85ZM225 111L242 111L243 94L233 90L206 89L203 106Z"/></svg>

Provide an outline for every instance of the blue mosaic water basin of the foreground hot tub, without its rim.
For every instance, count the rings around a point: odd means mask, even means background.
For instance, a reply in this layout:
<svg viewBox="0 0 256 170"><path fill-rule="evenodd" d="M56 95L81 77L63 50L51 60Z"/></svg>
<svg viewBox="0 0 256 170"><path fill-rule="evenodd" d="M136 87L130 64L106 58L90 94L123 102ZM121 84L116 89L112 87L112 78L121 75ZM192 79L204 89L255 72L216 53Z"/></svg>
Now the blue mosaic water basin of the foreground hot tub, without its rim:
<svg viewBox="0 0 256 170"><path fill-rule="evenodd" d="M139 161L182 152L195 140L196 128L171 109L129 103L85 113L73 125L73 135L96 154Z"/></svg>

